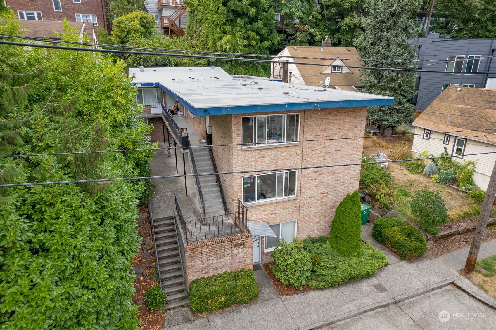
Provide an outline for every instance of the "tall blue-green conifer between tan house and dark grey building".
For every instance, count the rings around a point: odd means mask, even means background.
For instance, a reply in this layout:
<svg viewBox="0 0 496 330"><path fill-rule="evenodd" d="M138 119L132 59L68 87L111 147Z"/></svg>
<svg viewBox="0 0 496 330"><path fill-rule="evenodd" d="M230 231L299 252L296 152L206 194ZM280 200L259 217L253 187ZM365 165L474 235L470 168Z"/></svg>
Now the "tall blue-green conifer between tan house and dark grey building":
<svg viewBox="0 0 496 330"><path fill-rule="evenodd" d="M418 35L419 26L414 17L421 0L366 0L367 16L358 18L365 33L355 41L355 47L369 67L406 67L416 69L415 49L407 39ZM402 59L403 62L394 60ZM409 103L415 94L416 72L361 69L363 91L394 97L390 107L369 107L367 117L384 126L396 127L413 121L413 105Z"/></svg>

